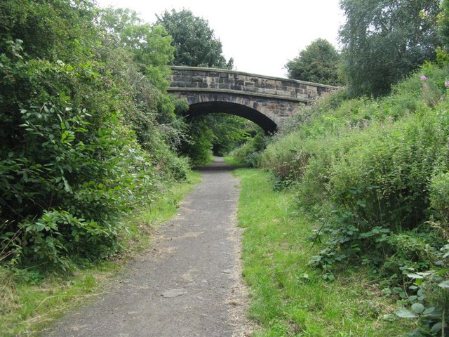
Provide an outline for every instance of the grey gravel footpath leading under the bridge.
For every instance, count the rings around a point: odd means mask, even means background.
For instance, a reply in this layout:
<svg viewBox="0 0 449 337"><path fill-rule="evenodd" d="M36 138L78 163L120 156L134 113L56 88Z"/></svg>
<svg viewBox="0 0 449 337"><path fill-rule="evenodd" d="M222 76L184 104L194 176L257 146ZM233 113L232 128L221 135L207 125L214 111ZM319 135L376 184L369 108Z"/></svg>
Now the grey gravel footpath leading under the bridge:
<svg viewBox="0 0 449 337"><path fill-rule="evenodd" d="M222 158L105 295L43 336L249 336L236 227L238 180ZM248 334L247 334L248 333Z"/></svg>

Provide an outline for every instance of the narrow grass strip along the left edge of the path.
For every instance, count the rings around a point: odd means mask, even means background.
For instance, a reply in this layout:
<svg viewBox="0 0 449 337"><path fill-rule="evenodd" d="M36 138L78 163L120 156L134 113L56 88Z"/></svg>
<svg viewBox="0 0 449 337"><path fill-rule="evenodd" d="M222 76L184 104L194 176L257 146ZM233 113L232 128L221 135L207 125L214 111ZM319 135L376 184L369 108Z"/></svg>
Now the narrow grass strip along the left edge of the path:
<svg viewBox="0 0 449 337"><path fill-rule="evenodd" d="M30 272L0 267L0 336L35 336L67 310L107 293L108 281L123 270L128 258L148 248L156 227L176 214L180 200L199 182L199 176L191 173L187 182L173 185L151 207L130 216L122 239L125 251L114 260L43 280Z"/></svg>

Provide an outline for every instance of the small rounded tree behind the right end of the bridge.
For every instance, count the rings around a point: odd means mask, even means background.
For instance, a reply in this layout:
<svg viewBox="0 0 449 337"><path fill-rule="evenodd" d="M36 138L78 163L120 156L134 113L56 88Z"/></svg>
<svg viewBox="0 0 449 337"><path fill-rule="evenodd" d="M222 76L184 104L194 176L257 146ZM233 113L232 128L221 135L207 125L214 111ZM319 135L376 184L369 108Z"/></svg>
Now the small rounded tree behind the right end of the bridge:
<svg viewBox="0 0 449 337"><path fill-rule="evenodd" d="M339 85L338 65L340 55L325 39L317 39L300 55L286 64L288 78L321 84Z"/></svg>

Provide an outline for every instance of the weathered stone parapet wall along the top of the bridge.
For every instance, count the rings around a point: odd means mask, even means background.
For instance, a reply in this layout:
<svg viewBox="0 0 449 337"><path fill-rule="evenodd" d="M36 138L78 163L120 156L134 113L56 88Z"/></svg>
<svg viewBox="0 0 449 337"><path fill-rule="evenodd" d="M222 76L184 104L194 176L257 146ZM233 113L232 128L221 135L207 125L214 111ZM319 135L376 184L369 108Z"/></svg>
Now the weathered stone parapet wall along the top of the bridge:
<svg viewBox="0 0 449 337"><path fill-rule="evenodd" d="M178 66L171 69L169 91L233 93L308 103L336 88L235 70Z"/></svg>

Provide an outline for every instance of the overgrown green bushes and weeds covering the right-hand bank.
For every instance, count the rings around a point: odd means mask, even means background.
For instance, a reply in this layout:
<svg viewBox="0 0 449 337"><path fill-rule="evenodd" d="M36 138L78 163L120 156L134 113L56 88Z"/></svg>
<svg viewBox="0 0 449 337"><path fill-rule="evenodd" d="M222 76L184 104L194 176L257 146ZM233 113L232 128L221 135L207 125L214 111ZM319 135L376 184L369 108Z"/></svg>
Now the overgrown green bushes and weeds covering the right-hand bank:
<svg viewBox="0 0 449 337"><path fill-rule="evenodd" d="M427 63L384 98L332 93L300 109L262 154L262 167L278 186L293 183L298 206L319 223L311 264L329 280L348 263L370 267L384 293L424 305L415 333L436 331L443 314L431 308L444 308L447 290L447 76ZM420 273L422 286L407 277Z"/></svg>

